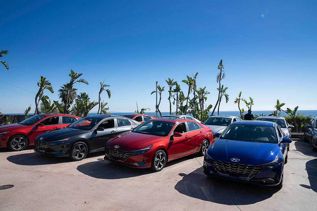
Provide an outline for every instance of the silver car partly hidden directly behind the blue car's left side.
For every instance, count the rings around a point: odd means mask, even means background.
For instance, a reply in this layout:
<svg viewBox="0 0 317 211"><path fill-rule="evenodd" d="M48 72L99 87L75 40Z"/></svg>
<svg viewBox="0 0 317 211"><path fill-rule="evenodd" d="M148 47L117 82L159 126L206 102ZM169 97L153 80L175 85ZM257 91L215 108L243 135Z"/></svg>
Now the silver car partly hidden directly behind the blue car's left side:
<svg viewBox="0 0 317 211"><path fill-rule="evenodd" d="M211 128L212 133L222 133L226 127L228 127L232 122L242 121L237 116L228 116L228 115L220 115L220 116L211 116L204 121L204 125Z"/></svg>

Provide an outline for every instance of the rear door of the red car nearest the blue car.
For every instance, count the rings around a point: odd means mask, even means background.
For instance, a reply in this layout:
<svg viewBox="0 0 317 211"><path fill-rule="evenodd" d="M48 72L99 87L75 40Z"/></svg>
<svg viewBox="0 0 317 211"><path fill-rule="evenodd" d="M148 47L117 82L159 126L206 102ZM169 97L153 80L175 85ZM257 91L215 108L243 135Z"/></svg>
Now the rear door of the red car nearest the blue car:
<svg viewBox="0 0 317 211"><path fill-rule="evenodd" d="M201 144L203 143L205 133L203 127L193 121L187 121L188 131L191 136L189 151L197 151L200 149Z"/></svg>

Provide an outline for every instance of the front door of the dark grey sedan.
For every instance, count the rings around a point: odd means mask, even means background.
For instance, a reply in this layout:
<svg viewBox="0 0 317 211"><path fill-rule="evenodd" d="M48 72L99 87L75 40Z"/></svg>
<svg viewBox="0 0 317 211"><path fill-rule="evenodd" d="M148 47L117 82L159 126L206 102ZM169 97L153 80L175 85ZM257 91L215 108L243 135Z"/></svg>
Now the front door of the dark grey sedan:
<svg viewBox="0 0 317 211"><path fill-rule="evenodd" d="M103 131L97 131L97 127L104 128ZM101 151L105 148L108 140L115 137L117 132L115 120L113 118L102 120L100 124L94 127L91 135L91 149L90 151Z"/></svg>

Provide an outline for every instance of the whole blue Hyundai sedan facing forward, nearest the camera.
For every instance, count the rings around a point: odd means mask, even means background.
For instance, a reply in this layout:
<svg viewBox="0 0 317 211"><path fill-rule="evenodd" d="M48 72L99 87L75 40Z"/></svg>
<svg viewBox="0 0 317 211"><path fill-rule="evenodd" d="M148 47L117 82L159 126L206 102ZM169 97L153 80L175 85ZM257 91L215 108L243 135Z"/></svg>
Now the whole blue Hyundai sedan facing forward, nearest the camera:
<svg viewBox="0 0 317 211"><path fill-rule="evenodd" d="M275 122L236 121L207 150L204 173L210 177L283 186L283 168L288 160L287 143Z"/></svg>

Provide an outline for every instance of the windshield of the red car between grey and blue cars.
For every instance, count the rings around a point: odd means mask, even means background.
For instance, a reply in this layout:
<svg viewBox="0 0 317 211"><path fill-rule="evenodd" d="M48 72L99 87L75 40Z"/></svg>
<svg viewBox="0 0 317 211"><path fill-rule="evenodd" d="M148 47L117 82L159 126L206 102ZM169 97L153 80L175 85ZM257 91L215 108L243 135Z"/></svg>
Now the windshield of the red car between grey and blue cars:
<svg viewBox="0 0 317 211"><path fill-rule="evenodd" d="M171 129L174 125L175 122L148 120L134 128L132 132L148 135L167 136L171 132Z"/></svg>

